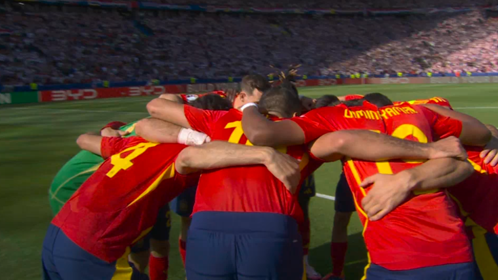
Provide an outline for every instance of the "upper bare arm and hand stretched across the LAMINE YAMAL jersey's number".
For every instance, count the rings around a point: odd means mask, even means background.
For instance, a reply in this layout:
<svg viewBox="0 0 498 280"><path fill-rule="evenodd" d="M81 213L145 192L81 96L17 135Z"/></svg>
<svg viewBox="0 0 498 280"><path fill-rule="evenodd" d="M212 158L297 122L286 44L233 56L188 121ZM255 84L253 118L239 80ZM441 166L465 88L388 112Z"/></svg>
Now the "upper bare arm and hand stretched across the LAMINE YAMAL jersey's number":
<svg viewBox="0 0 498 280"><path fill-rule="evenodd" d="M335 161L343 155L364 160L467 158L465 149L455 137L424 144L365 130L328 133L311 143L310 150L325 161Z"/></svg>

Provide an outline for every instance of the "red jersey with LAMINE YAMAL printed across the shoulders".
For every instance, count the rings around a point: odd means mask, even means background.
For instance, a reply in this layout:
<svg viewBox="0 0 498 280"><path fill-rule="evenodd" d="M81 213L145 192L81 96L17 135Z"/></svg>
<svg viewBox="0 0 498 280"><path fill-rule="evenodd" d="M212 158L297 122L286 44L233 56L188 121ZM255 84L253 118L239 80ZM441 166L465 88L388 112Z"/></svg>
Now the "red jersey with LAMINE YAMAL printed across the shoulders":
<svg viewBox="0 0 498 280"><path fill-rule="evenodd" d="M368 129L420 142L459 136L461 132L460 121L409 104L380 109L368 102L363 107L339 105L320 108L292 120L301 126L307 141L323 131L342 129ZM368 220L361 201L370 187L361 188L360 183L373 174L393 174L417 164L421 162L344 160L344 172L364 225L365 244L372 263L389 270L410 270L472 262L457 206L443 191L412 194L381 220Z"/></svg>

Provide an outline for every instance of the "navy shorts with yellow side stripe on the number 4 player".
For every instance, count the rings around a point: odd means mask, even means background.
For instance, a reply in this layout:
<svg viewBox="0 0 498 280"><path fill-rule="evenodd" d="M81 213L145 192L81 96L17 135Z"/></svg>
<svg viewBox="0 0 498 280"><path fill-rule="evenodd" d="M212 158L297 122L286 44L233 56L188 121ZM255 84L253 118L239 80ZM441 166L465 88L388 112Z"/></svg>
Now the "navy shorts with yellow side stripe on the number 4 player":
<svg viewBox="0 0 498 280"><path fill-rule="evenodd" d="M128 255L108 263L86 252L58 227L50 224L41 252L44 280L138 280L140 273L128 264Z"/></svg>

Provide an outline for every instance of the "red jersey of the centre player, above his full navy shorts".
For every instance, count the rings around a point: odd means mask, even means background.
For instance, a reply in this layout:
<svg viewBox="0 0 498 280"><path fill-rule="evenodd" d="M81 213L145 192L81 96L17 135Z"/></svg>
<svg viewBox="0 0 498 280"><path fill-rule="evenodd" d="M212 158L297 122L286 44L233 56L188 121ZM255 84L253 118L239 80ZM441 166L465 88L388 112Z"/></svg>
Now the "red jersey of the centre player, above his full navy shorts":
<svg viewBox="0 0 498 280"><path fill-rule="evenodd" d="M242 130L239 110L209 111L185 105L190 126L212 140L252 145ZM301 159L301 183L321 162L310 159L304 145L282 147L282 152ZM301 183L299 185L301 185ZM301 222L297 201L263 165L215 169L202 173L197 186L193 214L200 211L269 212L289 215Z"/></svg>

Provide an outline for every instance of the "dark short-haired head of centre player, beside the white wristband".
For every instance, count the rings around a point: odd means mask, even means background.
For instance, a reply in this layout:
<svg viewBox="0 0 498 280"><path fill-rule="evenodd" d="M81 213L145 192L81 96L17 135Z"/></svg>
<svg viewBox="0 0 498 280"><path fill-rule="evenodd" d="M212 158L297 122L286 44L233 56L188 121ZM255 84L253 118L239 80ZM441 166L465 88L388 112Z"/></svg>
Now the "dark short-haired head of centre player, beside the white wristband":
<svg viewBox="0 0 498 280"><path fill-rule="evenodd" d="M267 112L278 113L283 118L301 114L299 96L285 86L276 86L267 90L259 100L259 107Z"/></svg>

